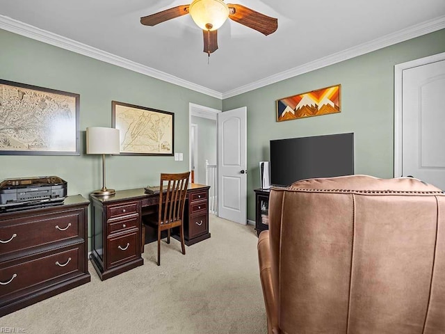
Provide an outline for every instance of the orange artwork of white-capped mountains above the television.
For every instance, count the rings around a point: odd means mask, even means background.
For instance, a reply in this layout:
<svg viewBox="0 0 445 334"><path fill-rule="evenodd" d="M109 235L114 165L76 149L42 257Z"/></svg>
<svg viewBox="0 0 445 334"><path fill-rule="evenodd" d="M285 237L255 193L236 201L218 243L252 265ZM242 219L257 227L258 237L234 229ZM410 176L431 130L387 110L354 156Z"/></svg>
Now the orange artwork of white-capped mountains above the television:
<svg viewBox="0 0 445 334"><path fill-rule="evenodd" d="M277 100L277 122L339 113L340 90L336 85Z"/></svg>

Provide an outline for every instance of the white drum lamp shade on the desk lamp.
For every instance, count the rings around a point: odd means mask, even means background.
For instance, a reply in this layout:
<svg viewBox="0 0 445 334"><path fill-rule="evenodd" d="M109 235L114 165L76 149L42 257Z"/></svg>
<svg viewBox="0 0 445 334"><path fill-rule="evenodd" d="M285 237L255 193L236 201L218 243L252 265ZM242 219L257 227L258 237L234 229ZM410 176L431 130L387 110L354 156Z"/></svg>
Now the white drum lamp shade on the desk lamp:
<svg viewBox="0 0 445 334"><path fill-rule="evenodd" d="M86 154L119 154L119 130L111 127L86 128Z"/></svg>

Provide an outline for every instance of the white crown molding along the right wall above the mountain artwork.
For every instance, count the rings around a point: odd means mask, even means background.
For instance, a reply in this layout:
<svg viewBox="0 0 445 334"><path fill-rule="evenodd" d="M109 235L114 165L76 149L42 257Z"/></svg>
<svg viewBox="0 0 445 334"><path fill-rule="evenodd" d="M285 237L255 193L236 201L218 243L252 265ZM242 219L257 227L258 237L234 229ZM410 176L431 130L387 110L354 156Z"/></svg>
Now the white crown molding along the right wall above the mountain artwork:
<svg viewBox="0 0 445 334"><path fill-rule="evenodd" d="M266 77L259 81L252 82L251 84L235 88L223 93L223 100L229 97L234 97L243 93L247 93L250 90L268 86L270 84L275 84L278 81L289 79L291 77L296 77L300 74L318 70L319 68L333 65L335 63L340 63L341 61L346 61L350 58L355 58L357 56L362 56L369 52L382 49L384 47L389 47L405 40L410 40L412 38L419 37L421 35L426 35L427 33L432 33L440 29L445 28L445 15L431 19L429 21L423 22L421 24L416 24L410 26L407 29L396 31L395 33L390 33L382 38L376 38L370 42L357 45L355 47L350 47L349 49L331 54L330 56L325 56L319 58L316 61L311 61L309 63L303 64L298 67L293 67L290 70L274 74L270 77Z"/></svg>

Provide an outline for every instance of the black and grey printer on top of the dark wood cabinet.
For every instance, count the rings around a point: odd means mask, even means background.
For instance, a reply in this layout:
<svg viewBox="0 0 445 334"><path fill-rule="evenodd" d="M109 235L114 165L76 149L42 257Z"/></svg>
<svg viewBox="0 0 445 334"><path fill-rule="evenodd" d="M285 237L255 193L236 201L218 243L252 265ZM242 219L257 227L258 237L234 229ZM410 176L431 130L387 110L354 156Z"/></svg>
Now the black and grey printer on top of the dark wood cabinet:
<svg viewBox="0 0 445 334"><path fill-rule="evenodd" d="M12 212L63 203L67 182L57 176L20 177L0 183L0 212Z"/></svg>

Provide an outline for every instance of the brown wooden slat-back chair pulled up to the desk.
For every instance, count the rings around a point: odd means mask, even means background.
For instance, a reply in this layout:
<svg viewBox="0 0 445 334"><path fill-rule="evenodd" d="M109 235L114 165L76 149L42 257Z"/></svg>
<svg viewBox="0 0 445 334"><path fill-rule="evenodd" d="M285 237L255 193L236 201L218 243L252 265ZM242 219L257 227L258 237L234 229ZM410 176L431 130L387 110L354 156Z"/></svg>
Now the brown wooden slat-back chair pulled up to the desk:
<svg viewBox="0 0 445 334"><path fill-rule="evenodd" d="M158 234L158 266L161 264L161 232L167 230L167 244L170 244L170 232L172 228L179 227L182 254L186 254L184 244L184 207L186 203L188 178L190 172L166 174L161 173L161 184L159 186L159 209L158 217L149 217L143 224L157 229ZM143 225L142 246L145 243L145 226Z"/></svg>

